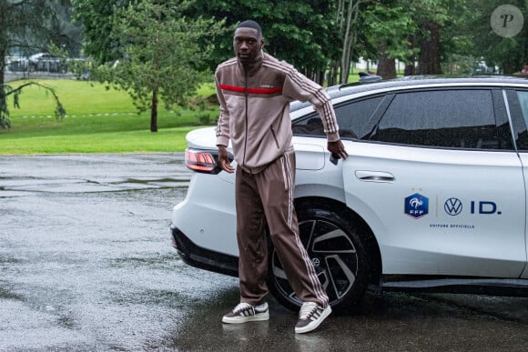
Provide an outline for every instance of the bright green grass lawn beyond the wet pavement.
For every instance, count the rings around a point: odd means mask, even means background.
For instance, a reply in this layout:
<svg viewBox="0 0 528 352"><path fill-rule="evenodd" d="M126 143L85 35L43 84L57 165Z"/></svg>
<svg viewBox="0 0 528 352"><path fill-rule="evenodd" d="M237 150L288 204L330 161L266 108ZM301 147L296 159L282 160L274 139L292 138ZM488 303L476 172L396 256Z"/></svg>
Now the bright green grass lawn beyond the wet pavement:
<svg viewBox="0 0 528 352"><path fill-rule="evenodd" d="M150 112L137 115L132 99L105 85L75 80L36 80L53 87L66 108L56 120L53 97L36 85L25 88L20 108L12 102L11 129L0 130L0 154L178 152L185 135L205 121L214 121L218 106L168 110L159 105L158 132L151 133ZM18 86L24 81L11 82ZM214 95L214 85L202 85L197 96ZM201 122L201 124L200 124Z"/></svg>

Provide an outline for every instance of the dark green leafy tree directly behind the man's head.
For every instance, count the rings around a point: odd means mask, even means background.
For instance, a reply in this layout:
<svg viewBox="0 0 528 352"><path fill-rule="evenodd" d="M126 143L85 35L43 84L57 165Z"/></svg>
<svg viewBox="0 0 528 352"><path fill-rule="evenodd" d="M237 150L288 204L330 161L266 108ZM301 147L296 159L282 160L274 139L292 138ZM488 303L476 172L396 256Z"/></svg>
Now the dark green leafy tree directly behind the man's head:
<svg viewBox="0 0 528 352"><path fill-rule="evenodd" d="M210 68L233 56L232 33L245 19L262 26L265 50L288 61L304 75L322 83L328 63L340 53L334 22L334 0L197 0L188 15L225 19L228 32L218 37L208 60Z"/></svg>

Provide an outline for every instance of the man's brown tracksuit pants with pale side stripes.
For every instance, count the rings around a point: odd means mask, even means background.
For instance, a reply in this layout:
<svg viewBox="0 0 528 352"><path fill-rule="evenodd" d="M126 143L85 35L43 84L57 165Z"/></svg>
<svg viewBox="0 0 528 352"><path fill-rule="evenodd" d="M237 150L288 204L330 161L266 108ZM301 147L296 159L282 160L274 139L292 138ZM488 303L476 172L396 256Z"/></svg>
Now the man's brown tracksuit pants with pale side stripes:
<svg viewBox="0 0 528 352"><path fill-rule="evenodd" d="M268 295L266 226L289 285L303 302L328 305L328 297L300 242L293 206L295 153L287 153L258 174L237 167L236 206L240 302L257 306Z"/></svg>

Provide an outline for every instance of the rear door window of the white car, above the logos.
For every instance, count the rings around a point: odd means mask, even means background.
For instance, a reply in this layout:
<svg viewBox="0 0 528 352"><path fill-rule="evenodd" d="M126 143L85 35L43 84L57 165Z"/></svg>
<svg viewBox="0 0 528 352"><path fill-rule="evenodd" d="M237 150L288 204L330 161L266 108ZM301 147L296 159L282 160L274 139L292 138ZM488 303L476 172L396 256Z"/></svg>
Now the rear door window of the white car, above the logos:
<svg viewBox="0 0 528 352"><path fill-rule="evenodd" d="M493 103L489 89L397 94L365 139L411 146L510 148L507 119L503 114L497 121Z"/></svg>

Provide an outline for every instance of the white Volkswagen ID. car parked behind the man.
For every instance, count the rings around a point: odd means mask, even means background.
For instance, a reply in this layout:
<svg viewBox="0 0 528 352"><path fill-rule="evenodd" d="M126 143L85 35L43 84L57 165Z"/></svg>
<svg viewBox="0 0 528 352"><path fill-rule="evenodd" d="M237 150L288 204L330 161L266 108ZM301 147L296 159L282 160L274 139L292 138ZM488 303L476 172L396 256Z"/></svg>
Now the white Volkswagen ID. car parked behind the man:
<svg viewBox="0 0 528 352"><path fill-rule="evenodd" d="M411 77L331 87L350 155L330 162L320 117L291 106L296 208L330 305L386 290L528 294L528 81ZM238 275L234 175L215 129L187 136L194 170L174 207L173 246L191 266ZM233 163L235 166L235 164ZM269 241L269 289L299 299Z"/></svg>

